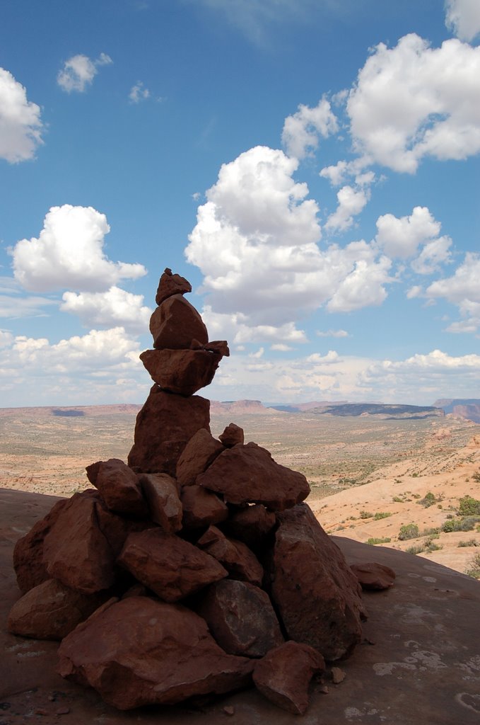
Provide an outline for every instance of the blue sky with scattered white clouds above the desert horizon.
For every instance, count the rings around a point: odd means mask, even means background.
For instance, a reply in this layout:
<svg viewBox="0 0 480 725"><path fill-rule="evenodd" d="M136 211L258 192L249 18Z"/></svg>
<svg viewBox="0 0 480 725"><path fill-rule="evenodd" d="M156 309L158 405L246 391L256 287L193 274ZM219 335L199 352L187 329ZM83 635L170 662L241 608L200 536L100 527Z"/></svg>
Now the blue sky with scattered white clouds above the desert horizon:
<svg viewBox="0 0 480 725"><path fill-rule="evenodd" d="M3 0L0 407L480 398L480 0Z"/></svg>

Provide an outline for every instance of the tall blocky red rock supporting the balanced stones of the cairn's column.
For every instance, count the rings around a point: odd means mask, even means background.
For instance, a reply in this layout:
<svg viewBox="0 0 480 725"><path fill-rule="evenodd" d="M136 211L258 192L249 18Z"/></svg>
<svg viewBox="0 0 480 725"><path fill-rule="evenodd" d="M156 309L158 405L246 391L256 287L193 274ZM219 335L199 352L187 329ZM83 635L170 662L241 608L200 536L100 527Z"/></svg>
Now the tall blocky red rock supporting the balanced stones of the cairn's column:
<svg viewBox="0 0 480 725"><path fill-rule="evenodd" d="M209 430L210 402L199 395L184 398L154 385L137 415L130 468L143 473L175 475L177 460L199 428Z"/></svg>

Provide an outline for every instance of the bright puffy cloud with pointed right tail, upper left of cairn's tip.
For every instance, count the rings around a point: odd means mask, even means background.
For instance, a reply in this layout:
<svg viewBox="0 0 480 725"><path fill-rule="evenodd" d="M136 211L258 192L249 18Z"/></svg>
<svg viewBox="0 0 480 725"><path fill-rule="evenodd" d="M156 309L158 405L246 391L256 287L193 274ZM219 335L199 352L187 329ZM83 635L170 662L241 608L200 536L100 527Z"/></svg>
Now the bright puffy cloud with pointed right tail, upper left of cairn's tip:
<svg viewBox="0 0 480 725"><path fill-rule="evenodd" d="M29 291L105 291L120 279L146 274L140 264L111 262L103 252L110 227L93 207L51 207L38 239L22 239L11 250L14 276Z"/></svg>

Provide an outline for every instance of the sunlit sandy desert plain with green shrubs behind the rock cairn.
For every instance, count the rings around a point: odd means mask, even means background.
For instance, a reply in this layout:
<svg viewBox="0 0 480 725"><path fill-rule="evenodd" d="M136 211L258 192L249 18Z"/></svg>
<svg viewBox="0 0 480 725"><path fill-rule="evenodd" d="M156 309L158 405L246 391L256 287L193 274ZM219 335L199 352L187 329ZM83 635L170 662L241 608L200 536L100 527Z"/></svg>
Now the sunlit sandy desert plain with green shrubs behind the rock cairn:
<svg viewBox="0 0 480 725"><path fill-rule="evenodd" d="M0 487L64 497L87 488L86 465L127 459L138 410L0 409ZM213 402L214 436L231 422L277 463L305 474L308 503L329 534L480 576L478 424L452 415L338 418Z"/></svg>

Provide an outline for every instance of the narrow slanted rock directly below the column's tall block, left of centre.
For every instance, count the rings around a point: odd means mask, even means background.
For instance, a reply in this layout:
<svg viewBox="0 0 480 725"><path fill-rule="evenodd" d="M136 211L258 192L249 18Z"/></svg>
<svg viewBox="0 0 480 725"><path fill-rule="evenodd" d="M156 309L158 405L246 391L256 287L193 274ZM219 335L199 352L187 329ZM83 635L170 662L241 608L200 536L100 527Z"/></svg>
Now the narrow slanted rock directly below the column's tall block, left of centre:
<svg viewBox="0 0 480 725"><path fill-rule="evenodd" d="M138 477L143 495L148 502L150 518L167 534L182 528L182 502L177 481L168 473L142 473Z"/></svg>

